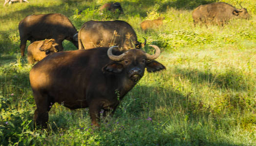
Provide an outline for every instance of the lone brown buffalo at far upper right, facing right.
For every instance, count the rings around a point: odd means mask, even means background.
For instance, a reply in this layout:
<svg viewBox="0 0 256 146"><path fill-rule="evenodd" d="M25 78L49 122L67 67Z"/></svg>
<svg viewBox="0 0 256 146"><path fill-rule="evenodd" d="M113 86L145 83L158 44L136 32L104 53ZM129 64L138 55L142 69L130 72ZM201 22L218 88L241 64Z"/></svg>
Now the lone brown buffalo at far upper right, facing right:
<svg viewBox="0 0 256 146"><path fill-rule="evenodd" d="M192 18L194 20L194 25L199 22L211 23L222 25L229 19L234 18L246 18L248 19L250 15L248 14L246 8L237 9L232 5L225 2L215 2L205 5L200 5L195 8L192 12Z"/></svg>

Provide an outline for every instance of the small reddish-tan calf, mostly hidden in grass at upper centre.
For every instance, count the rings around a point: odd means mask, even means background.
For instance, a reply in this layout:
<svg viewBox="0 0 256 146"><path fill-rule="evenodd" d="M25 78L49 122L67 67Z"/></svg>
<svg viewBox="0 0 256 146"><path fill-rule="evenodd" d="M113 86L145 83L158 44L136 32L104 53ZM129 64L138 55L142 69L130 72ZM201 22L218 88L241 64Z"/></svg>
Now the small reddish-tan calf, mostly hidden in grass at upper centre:
<svg viewBox="0 0 256 146"><path fill-rule="evenodd" d="M152 29L154 27L159 27L163 25L164 17L159 17L154 20L145 20L140 23L140 27L143 31L147 31L148 29Z"/></svg>

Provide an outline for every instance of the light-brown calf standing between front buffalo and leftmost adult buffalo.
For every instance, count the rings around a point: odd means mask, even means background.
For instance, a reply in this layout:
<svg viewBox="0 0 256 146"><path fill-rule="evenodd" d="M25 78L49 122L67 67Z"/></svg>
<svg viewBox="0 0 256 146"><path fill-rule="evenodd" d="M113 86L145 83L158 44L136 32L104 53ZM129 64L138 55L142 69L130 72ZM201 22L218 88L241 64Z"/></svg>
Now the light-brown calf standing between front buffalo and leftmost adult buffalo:
<svg viewBox="0 0 256 146"><path fill-rule="evenodd" d="M27 47L27 61L33 64L35 61L40 61L47 55L58 52L55 48L58 44L54 39L45 39L40 41L34 41Z"/></svg>

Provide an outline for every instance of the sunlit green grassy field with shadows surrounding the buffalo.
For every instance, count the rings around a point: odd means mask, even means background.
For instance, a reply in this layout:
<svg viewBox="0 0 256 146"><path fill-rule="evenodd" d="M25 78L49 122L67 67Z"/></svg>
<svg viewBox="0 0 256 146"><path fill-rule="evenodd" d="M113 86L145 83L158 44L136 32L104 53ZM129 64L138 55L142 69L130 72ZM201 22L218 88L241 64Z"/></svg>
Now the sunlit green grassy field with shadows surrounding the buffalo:
<svg viewBox="0 0 256 146"><path fill-rule="evenodd" d="M191 12L217 0L117 0L125 12L120 16L99 12L107 1L29 0L5 7L2 1L0 146L256 146L255 0L222 0L237 8L241 3L251 19L208 28L194 27ZM18 24L27 15L47 13L66 15L77 29L92 19L125 20L139 41L146 37L161 48L157 61L167 70L145 73L101 128L90 126L88 109L55 104L49 128L34 129L32 66L21 58ZM143 20L159 16L165 17L163 27L140 29Z"/></svg>

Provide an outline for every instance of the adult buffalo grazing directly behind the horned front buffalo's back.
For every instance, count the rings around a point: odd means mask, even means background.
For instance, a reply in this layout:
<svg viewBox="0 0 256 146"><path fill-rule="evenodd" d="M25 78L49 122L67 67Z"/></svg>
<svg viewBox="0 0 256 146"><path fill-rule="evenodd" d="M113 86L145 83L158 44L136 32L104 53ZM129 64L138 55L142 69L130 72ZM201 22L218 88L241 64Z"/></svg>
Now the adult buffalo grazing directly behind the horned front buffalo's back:
<svg viewBox="0 0 256 146"><path fill-rule="evenodd" d="M145 38L144 38L145 39ZM78 33L79 49L109 47L117 45L121 50L141 48L146 45L137 41L132 27L125 21L87 21Z"/></svg>

